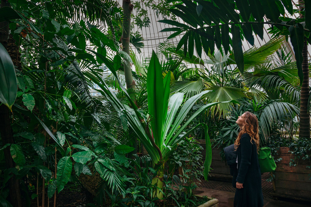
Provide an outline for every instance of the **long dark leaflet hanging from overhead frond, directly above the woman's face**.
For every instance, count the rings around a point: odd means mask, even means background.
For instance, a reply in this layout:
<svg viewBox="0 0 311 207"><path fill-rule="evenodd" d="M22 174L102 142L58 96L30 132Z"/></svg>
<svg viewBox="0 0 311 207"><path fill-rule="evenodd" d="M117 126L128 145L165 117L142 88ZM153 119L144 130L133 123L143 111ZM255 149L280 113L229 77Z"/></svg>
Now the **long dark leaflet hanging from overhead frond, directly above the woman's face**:
<svg viewBox="0 0 311 207"><path fill-rule="evenodd" d="M232 25L231 33L232 33L232 48L234 53L234 59L235 62L237 63L237 67L239 68L240 72L243 73L244 58L243 58L242 40L240 37L240 28L235 25Z"/></svg>

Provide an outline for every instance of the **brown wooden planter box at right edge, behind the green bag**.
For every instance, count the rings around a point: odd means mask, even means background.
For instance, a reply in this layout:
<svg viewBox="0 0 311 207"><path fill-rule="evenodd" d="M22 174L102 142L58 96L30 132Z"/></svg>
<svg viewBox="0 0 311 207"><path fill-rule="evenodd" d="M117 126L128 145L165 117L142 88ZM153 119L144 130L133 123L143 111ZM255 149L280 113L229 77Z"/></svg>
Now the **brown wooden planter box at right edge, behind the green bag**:
<svg viewBox="0 0 311 207"><path fill-rule="evenodd" d="M295 160L297 166L289 166L290 159L295 159L295 155L291 154L288 147L280 147L278 157L281 157L280 162L276 162L276 170L274 172L275 179L273 187L275 192L272 193L274 199L277 197L285 197L291 199L299 199L311 201L311 180L309 179L311 169L309 160L301 158Z"/></svg>

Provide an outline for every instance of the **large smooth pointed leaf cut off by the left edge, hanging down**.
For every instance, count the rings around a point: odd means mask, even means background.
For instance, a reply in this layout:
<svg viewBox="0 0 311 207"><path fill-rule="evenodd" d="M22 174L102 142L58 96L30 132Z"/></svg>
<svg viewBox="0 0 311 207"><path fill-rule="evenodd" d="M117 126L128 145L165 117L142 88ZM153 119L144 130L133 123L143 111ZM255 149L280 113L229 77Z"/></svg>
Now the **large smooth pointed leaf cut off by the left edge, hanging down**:
<svg viewBox="0 0 311 207"><path fill-rule="evenodd" d="M0 74L0 101L12 111L17 94L17 80L11 57L1 43Z"/></svg>

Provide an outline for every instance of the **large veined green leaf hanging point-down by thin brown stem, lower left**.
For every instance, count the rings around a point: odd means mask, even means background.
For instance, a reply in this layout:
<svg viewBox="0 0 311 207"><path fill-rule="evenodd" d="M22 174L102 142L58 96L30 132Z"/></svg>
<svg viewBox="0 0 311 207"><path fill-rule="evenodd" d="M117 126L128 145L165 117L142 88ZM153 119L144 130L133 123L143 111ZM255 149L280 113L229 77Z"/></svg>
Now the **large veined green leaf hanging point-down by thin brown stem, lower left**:
<svg viewBox="0 0 311 207"><path fill-rule="evenodd" d="M68 183L72 171L72 162L70 157L62 157L57 163L57 191L64 189Z"/></svg>

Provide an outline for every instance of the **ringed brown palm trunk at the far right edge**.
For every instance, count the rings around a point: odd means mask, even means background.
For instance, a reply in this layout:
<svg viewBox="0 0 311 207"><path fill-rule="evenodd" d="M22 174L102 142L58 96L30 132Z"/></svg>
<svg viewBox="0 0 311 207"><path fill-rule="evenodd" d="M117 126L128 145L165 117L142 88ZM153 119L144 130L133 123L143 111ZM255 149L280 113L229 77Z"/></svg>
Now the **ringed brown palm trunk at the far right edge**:
<svg viewBox="0 0 311 207"><path fill-rule="evenodd" d="M304 3L299 0L299 10L304 9ZM300 18L304 16L300 13ZM300 91L300 128L299 128L299 138L305 137L310 138L310 114L308 111L308 101L309 101L309 64L308 64L308 43L307 39L304 38L303 47L303 83Z"/></svg>

